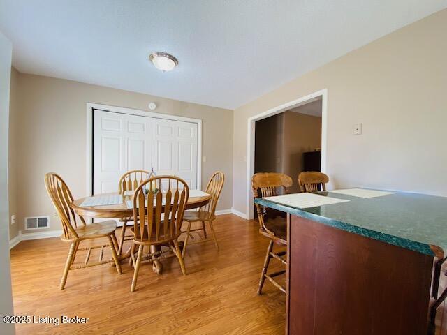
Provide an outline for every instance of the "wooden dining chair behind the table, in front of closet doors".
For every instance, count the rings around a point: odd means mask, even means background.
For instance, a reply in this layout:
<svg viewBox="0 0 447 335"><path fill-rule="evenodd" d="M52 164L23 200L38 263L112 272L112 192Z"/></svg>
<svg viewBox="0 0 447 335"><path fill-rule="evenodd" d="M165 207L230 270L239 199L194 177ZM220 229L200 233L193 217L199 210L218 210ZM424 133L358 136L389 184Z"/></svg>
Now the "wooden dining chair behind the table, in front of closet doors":
<svg viewBox="0 0 447 335"><path fill-rule="evenodd" d="M153 172L149 172L146 170L130 170L123 174L121 178L119 178L119 186L118 192L121 195L125 195L126 192L135 191L138 186L142 184L143 181L152 177ZM123 228L121 230L121 234L119 234L119 243L118 243L118 255L122 254L124 241L130 241L133 239L133 234L126 235L126 228L133 225L132 223L133 217L120 218L119 222L122 222Z"/></svg>

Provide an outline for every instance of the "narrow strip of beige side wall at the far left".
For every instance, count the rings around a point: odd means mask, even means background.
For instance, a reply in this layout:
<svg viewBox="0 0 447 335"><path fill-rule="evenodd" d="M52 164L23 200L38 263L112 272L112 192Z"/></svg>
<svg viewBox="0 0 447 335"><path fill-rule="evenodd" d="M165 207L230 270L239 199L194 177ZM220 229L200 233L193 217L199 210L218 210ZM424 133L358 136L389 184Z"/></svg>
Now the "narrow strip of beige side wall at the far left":
<svg viewBox="0 0 447 335"><path fill-rule="evenodd" d="M11 68L10 81L10 102L9 102L9 217L17 216L17 135L20 122L19 116L19 73L15 68ZM19 231L19 223L15 218L15 223L11 224L9 220L9 237L13 239Z"/></svg>

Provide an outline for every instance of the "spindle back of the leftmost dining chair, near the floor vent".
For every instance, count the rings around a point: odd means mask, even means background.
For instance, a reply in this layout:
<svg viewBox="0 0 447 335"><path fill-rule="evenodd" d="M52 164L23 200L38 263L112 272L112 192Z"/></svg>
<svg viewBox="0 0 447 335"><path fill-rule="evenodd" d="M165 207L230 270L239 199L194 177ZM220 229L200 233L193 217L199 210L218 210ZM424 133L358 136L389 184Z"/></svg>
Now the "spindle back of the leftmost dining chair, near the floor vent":
<svg viewBox="0 0 447 335"><path fill-rule="evenodd" d="M45 174L45 188L61 219L64 239L78 239L76 233L78 221L75 211L69 206L73 202L73 195L66 182L58 174L49 172ZM84 218L82 216L79 216L79 218L81 224L85 225Z"/></svg>

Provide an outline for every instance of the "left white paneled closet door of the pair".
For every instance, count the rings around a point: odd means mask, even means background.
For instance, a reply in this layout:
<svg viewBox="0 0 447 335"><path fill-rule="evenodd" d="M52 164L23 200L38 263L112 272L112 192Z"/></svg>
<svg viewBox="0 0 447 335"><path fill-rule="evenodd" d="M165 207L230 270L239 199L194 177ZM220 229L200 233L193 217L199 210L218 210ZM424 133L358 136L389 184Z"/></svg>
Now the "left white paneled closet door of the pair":
<svg viewBox="0 0 447 335"><path fill-rule="evenodd" d="M94 111L93 193L118 191L129 170L152 168L152 119Z"/></svg>

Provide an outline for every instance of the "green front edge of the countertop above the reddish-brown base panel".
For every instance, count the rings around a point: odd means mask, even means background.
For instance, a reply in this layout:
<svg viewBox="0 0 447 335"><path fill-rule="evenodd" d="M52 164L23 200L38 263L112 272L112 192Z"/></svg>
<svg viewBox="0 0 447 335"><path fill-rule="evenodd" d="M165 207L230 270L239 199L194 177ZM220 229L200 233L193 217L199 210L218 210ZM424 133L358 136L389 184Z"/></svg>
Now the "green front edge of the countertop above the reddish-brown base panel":
<svg viewBox="0 0 447 335"><path fill-rule="evenodd" d="M377 241L382 241L387 244L392 244L393 246L400 246L402 248L406 248L411 251L416 251L418 253L429 255L432 257L444 258L444 251L439 246L432 246L430 244L424 244L418 241L411 241L409 239L404 239L403 237L397 237L383 232L377 232L375 230L370 230L368 228L358 227L356 225L351 225L350 223L345 223L332 218L325 218L317 214L302 211L301 209L288 207L285 206L284 204L279 204L277 202L272 202L271 200L265 200L263 198L256 198L254 202L256 202L257 204L261 204L265 207L270 207L273 209L277 209L279 211L284 211L288 214L294 214L297 216L301 216L302 218L308 218L309 220L316 221L318 223L323 223L324 225L341 229L346 232L352 232L353 234L358 234L363 237L369 237L370 239L375 239Z"/></svg>

